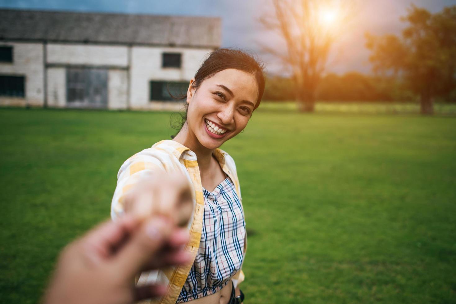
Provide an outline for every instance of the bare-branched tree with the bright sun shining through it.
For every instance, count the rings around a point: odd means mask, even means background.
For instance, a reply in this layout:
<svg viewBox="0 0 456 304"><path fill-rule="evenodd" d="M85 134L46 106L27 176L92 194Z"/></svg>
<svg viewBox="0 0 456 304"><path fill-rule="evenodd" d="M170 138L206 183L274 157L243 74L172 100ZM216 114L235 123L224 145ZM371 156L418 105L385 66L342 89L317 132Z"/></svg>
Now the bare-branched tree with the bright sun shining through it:
<svg viewBox="0 0 456 304"><path fill-rule="evenodd" d="M301 112L313 112L315 92L333 42L348 24L354 0L272 0L273 15L260 22L279 34L286 50L262 46L289 68Z"/></svg>

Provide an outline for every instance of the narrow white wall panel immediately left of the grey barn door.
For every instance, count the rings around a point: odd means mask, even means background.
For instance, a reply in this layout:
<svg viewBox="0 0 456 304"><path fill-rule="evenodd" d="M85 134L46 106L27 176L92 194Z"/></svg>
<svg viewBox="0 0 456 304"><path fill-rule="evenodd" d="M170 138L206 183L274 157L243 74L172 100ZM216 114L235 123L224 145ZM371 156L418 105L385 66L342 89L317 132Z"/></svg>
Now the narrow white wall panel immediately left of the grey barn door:
<svg viewBox="0 0 456 304"><path fill-rule="evenodd" d="M64 67L47 69L47 104L64 108L67 104L67 71Z"/></svg>

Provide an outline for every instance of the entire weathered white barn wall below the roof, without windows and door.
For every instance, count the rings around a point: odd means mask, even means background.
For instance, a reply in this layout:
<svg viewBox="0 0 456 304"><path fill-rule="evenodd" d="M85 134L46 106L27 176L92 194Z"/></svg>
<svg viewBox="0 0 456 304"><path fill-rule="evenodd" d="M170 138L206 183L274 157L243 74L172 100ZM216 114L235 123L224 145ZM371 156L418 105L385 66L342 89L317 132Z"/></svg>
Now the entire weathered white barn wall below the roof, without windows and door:
<svg viewBox="0 0 456 304"><path fill-rule="evenodd" d="M13 46L12 63L0 63L0 74L26 77L26 98L0 97L0 105L44 105L43 45L40 43L7 43ZM130 79L127 46L98 46L85 44L48 44L47 46L47 103L50 107L66 106L66 67L109 67L108 108L144 110L178 110L182 103L150 101L151 80L189 81L212 49L133 46L131 48ZM180 52L181 68L161 67L163 52ZM128 82L130 81L130 89Z"/></svg>

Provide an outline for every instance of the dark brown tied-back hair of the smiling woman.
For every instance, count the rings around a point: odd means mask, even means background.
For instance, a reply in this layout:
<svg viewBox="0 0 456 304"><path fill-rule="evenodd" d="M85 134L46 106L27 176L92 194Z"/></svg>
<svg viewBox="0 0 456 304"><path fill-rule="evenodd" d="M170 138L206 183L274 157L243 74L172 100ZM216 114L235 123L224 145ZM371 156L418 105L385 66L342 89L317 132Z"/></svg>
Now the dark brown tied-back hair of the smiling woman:
<svg viewBox="0 0 456 304"><path fill-rule="evenodd" d="M249 54L240 49L222 48L210 53L196 72L195 81L192 83L192 86L198 88L205 79L210 78L216 73L226 69L236 69L251 73L255 76L255 80L258 85L258 99L254 110L258 108L264 93L264 64L255 55ZM186 99L187 94L181 95L178 98L173 98ZM185 113L178 113L181 116L181 119L178 119L177 124L173 124L171 122L171 128L177 130L176 134L171 135L171 138L174 138L181 131L187 121L188 103L185 103L184 109Z"/></svg>

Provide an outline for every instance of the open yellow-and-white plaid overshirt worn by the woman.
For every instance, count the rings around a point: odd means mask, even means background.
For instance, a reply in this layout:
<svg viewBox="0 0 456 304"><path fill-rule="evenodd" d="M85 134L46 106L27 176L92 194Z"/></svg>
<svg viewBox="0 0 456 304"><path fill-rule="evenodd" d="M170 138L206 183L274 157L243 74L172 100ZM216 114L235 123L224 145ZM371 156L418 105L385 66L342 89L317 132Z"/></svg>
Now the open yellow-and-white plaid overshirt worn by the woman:
<svg viewBox="0 0 456 304"><path fill-rule="evenodd" d="M213 155L218 160L223 171L233 181L242 208L241 190L233 158L222 149L215 149ZM187 226L190 240L185 250L196 258L199 252L204 216L204 195L201 177L196 154L174 140L161 140L151 148L142 150L124 162L117 174L117 186L111 202L111 217L115 221L119 216L122 216L125 195L133 185L142 179L148 178L151 174L160 174L160 172L180 172L187 177L192 191L193 212ZM247 250L246 234L244 234L243 249L243 256L245 257ZM176 267L141 273L137 279L137 285L161 283L168 286L165 296L156 301L143 301L142 303L176 303L192 266L193 261ZM244 280L242 270L234 273L232 280L235 287L242 282Z"/></svg>

